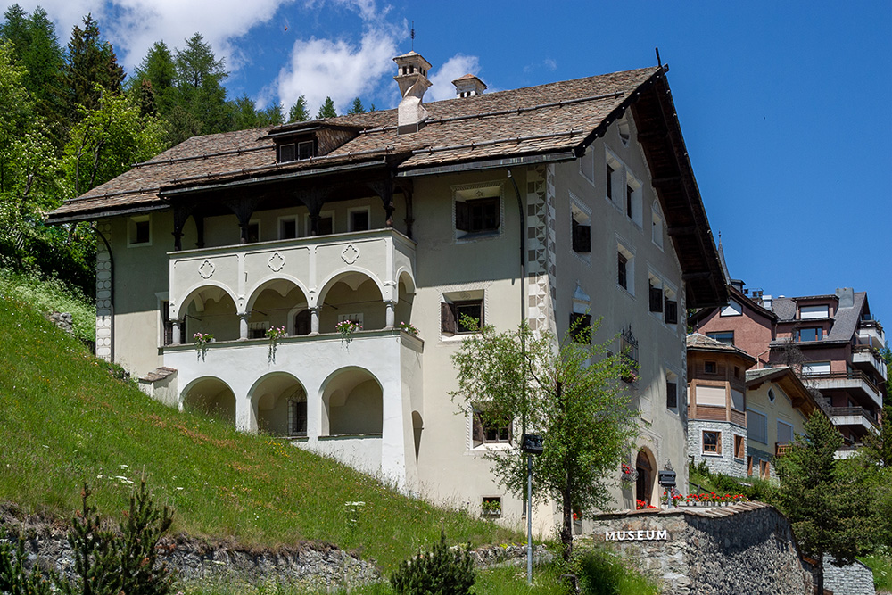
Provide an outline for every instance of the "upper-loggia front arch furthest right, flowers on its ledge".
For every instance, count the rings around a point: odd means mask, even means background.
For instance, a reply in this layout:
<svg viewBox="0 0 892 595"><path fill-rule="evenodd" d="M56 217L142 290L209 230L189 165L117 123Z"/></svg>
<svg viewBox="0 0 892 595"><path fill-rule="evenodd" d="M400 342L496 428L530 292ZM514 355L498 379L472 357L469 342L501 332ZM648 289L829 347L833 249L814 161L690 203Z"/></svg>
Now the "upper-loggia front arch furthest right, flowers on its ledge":
<svg viewBox="0 0 892 595"><path fill-rule="evenodd" d="M384 328L384 293L375 277L362 271L331 277L318 293L319 332L334 333L343 318L359 322L363 330Z"/></svg>

